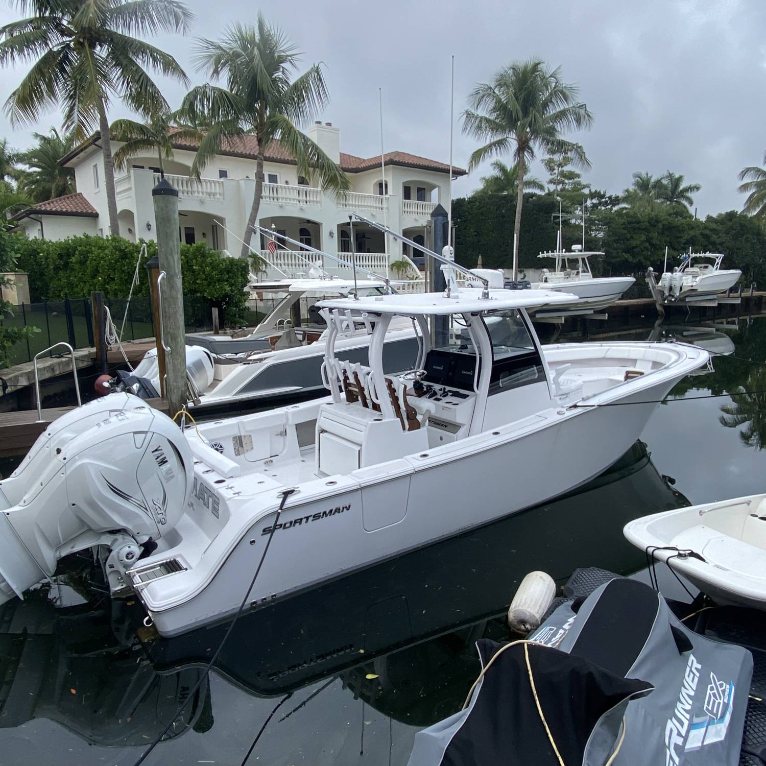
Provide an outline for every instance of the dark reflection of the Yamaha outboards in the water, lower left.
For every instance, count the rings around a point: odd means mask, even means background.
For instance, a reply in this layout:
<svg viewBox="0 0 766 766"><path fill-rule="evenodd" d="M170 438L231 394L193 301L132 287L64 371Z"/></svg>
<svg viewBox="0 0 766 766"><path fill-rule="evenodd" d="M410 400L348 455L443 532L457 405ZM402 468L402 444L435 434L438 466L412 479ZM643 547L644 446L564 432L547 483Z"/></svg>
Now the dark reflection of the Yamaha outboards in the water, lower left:
<svg viewBox="0 0 766 766"><path fill-rule="evenodd" d="M155 673L119 640L114 614L93 604L56 608L44 591L0 607L0 728L49 719L91 745L146 745L174 719L197 667ZM208 683L169 732L212 725ZM2 758L0 758L2 761Z"/></svg>

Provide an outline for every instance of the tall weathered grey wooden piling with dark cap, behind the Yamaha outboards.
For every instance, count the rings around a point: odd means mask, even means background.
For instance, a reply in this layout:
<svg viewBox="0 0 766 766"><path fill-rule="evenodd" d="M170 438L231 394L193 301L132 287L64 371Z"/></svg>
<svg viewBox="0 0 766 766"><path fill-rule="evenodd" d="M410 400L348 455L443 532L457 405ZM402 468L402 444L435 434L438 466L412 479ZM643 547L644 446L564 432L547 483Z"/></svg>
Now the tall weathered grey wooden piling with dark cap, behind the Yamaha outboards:
<svg viewBox="0 0 766 766"><path fill-rule="evenodd" d="M168 401L168 411L172 417L184 408L188 401L181 242L178 241L178 191L167 179L162 178L152 189L152 201L160 269L155 282L155 294L159 298L159 328L155 327L155 335L159 331L158 351L161 346L165 351L166 377L163 395Z"/></svg>

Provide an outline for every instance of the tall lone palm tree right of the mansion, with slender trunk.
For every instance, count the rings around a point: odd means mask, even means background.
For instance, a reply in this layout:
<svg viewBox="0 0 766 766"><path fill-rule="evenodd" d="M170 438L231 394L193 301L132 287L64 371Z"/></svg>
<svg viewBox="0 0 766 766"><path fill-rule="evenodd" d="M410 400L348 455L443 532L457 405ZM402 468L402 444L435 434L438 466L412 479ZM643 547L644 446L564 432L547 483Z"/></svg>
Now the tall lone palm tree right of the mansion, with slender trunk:
<svg viewBox="0 0 766 766"><path fill-rule="evenodd" d="M565 141L568 129L591 126L593 116L576 101L578 89L561 80L561 67L549 69L536 59L517 61L496 72L492 83L480 83L463 113L463 133L487 143L471 155L469 170L493 155L512 152L519 166L514 223L513 279L519 276L519 232L524 201L524 175L535 149L570 154L578 166L590 163L579 144Z"/></svg>

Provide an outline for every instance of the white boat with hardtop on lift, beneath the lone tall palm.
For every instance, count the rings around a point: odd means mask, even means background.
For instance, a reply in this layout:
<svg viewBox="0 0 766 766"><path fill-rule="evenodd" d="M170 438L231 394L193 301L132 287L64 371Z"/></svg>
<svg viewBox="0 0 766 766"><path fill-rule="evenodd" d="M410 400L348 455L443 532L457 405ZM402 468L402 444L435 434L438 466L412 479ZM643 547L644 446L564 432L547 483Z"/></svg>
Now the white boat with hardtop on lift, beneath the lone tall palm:
<svg viewBox="0 0 766 766"><path fill-rule="evenodd" d="M594 277L589 258L604 255L601 250L583 250L581 245L572 245L570 251L557 248L541 253L538 258L554 259L552 270L543 269L538 282L532 282L532 290L553 290L571 293L578 297L571 305L541 308L534 316L551 314L574 316L592 313L611 306L620 300L626 290L636 281L633 277Z"/></svg>

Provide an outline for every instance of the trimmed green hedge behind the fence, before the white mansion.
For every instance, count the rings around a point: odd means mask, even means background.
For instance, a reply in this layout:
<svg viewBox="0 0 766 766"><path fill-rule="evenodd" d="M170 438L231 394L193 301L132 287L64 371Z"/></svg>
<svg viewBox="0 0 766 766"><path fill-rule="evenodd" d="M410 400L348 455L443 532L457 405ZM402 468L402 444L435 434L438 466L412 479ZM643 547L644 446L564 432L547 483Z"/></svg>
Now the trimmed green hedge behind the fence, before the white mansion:
<svg viewBox="0 0 766 766"><path fill-rule="evenodd" d="M110 298L125 298L130 290L141 244L122 237L70 237L65 240L26 239L17 236L19 271L29 274L32 302L89 297L100 290ZM157 243L146 243L134 295L148 295L146 260L157 253ZM240 258L223 257L205 242L181 245L184 294L200 296L221 309L225 322L244 321L248 266Z"/></svg>

